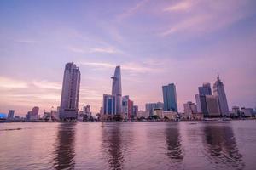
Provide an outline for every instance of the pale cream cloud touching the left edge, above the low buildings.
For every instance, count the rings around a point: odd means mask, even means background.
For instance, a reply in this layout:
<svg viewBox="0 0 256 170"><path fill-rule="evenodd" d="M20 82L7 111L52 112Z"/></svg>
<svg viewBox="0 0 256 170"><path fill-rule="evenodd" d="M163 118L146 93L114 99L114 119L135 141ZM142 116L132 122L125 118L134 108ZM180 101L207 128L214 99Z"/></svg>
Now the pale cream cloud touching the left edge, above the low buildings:
<svg viewBox="0 0 256 170"><path fill-rule="evenodd" d="M28 84L13 78L0 77L0 88L28 88Z"/></svg>

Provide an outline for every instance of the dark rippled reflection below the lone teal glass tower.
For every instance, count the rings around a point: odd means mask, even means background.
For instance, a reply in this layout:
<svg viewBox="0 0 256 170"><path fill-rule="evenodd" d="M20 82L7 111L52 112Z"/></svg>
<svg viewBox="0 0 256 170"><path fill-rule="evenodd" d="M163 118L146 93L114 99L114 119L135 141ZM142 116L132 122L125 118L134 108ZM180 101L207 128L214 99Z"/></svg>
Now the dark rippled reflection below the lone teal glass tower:
<svg viewBox="0 0 256 170"><path fill-rule="evenodd" d="M183 149L180 138L181 136L177 125L173 126L173 124L168 124L166 127L167 156L175 162L183 161Z"/></svg>

